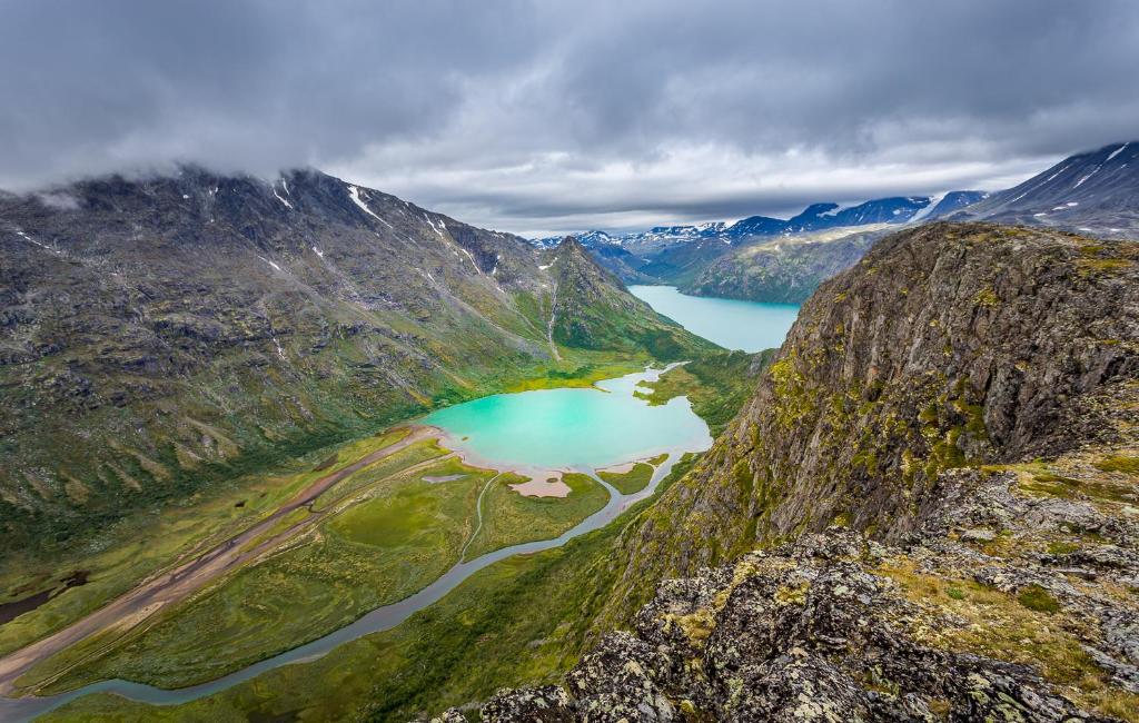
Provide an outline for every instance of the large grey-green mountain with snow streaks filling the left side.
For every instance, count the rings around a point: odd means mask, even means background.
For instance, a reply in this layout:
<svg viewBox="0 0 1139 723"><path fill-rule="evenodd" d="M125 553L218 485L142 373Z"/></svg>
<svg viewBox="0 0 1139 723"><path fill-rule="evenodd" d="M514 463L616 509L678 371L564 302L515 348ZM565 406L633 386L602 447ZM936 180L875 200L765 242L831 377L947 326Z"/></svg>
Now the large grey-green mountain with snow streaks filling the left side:
<svg viewBox="0 0 1139 723"><path fill-rule="evenodd" d="M0 249L5 548L557 363L527 244L318 172L5 195Z"/></svg>

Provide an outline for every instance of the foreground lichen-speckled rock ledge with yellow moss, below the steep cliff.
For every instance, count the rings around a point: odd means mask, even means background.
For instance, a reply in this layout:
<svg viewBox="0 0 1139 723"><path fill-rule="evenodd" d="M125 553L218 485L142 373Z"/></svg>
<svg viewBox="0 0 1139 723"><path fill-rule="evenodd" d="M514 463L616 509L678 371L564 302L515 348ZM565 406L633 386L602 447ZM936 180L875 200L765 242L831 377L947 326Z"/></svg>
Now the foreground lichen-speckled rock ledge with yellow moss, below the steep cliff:
<svg viewBox="0 0 1139 723"><path fill-rule="evenodd" d="M942 473L904 547L831 527L664 581L562 689L501 691L481 720L1133 717L1139 509L1111 498L1134 482L1073 501L1019 471Z"/></svg>

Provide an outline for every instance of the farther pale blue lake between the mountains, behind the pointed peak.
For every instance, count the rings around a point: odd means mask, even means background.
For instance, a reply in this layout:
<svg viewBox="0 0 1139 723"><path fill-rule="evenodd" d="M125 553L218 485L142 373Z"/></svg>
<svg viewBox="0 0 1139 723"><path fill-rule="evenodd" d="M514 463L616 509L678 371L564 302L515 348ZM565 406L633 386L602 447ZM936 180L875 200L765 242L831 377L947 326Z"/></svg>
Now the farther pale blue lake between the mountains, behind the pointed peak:
<svg viewBox="0 0 1139 723"><path fill-rule="evenodd" d="M630 286L629 291L693 334L745 352L781 346L798 317L797 304L688 296L674 286Z"/></svg>

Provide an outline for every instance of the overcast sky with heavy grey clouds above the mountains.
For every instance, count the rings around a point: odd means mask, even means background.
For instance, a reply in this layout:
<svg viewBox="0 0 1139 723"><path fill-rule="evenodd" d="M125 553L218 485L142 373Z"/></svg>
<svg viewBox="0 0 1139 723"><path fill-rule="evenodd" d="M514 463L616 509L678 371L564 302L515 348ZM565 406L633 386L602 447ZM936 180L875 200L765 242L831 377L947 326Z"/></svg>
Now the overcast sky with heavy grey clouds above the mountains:
<svg viewBox="0 0 1139 723"><path fill-rule="evenodd" d="M313 166L524 236L1139 140L1134 0L0 0L0 188Z"/></svg>

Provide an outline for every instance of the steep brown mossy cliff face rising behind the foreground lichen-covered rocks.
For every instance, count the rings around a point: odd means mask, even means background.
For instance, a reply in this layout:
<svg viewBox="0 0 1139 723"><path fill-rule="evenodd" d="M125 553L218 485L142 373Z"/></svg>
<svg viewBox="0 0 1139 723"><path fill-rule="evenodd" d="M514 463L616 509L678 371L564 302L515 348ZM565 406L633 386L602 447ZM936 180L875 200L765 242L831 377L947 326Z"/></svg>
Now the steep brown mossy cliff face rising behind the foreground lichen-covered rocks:
<svg viewBox="0 0 1139 723"><path fill-rule="evenodd" d="M687 574L843 521L913 531L940 471L1118 433L1139 378L1139 244L936 223L880 241L808 302L755 395L625 536Z"/></svg>

